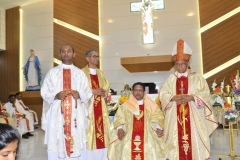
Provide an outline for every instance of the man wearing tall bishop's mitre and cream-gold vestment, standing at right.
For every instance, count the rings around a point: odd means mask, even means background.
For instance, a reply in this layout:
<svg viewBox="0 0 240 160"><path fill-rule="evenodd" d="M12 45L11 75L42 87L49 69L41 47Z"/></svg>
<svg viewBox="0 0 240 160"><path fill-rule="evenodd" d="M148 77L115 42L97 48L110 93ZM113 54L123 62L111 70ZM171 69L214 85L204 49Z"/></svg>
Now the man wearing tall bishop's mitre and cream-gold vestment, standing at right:
<svg viewBox="0 0 240 160"><path fill-rule="evenodd" d="M190 47L180 39L172 51L177 71L160 90L164 139L174 148L167 156L169 160L209 159L209 136L218 126L206 80L189 69L191 54Z"/></svg>

